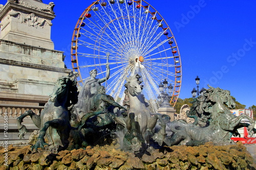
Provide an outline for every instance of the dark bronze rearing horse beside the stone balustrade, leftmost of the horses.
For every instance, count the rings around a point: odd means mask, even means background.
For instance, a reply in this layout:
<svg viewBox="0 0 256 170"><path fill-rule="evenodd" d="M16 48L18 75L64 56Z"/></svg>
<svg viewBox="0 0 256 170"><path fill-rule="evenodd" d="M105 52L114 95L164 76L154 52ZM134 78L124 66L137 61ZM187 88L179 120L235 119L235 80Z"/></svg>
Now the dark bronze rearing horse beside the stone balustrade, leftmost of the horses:
<svg viewBox="0 0 256 170"><path fill-rule="evenodd" d="M67 149L70 131L72 130L68 107L77 103L78 92L76 84L77 82L72 76L59 78L40 116L36 115L32 110L28 110L17 118L19 138L26 134L27 129L25 125L22 125L22 122L23 118L29 115L40 130L39 137L32 149L44 149L44 146L48 145L45 142L45 136L47 136L53 150Z"/></svg>

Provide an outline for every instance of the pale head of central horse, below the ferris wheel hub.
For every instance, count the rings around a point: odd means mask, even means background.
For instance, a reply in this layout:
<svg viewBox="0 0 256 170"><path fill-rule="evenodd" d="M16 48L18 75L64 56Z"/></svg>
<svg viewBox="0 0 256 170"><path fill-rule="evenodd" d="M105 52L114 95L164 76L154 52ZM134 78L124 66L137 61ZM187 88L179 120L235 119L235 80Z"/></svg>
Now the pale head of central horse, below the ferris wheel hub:
<svg viewBox="0 0 256 170"><path fill-rule="evenodd" d="M128 92L132 95L140 95L141 91L143 89L143 86L140 85L142 81L138 79L138 75L131 76L129 78L126 78L127 83L124 85Z"/></svg>

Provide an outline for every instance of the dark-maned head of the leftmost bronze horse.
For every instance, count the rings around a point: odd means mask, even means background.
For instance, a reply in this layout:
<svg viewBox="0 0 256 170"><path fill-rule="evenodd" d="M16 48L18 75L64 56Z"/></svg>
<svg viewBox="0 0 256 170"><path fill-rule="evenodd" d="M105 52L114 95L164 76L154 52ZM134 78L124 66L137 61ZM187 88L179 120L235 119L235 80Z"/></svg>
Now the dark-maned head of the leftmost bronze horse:
<svg viewBox="0 0 256 170"><path fill-rule="evenodd" d="M76 81L72 81L69 77L59 78L50 95L50 101L69 107L77 103L77 95Z"/></svg>

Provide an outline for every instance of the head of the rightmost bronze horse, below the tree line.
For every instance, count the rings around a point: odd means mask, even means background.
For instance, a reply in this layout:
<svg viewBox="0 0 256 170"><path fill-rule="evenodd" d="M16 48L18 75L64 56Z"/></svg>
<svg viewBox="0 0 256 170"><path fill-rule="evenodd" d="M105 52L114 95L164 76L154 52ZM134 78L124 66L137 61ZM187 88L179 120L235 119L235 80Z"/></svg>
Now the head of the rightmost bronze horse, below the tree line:
<svg viewBox="0 0 256 170"><path fill-rule="evenodd" d="M232 99L230 91L223 90L219 87L210 87L207 92L209 92L209 96L212 102L224 104L229 109L233 109L236 107L236 102Z"/></svg>

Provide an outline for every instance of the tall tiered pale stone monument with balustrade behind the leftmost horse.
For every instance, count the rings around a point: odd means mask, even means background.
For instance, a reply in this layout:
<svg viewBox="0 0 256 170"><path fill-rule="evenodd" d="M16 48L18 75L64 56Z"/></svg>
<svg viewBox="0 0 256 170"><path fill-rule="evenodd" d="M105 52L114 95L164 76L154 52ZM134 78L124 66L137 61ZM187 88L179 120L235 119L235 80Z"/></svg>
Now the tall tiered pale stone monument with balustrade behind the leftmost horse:
<svg viewBox="0 0 256 170"><path fill-rule="evenodd" d="M53 7L54 3L33 0L0 5L0 128L4 114L8 115L9 135L15 132L9 138L17 136L16 117L28 109L39 115L54 82L70 72L63 52L54 50L51 40ZM32 132L35 126L28 129Z"/></svg>

